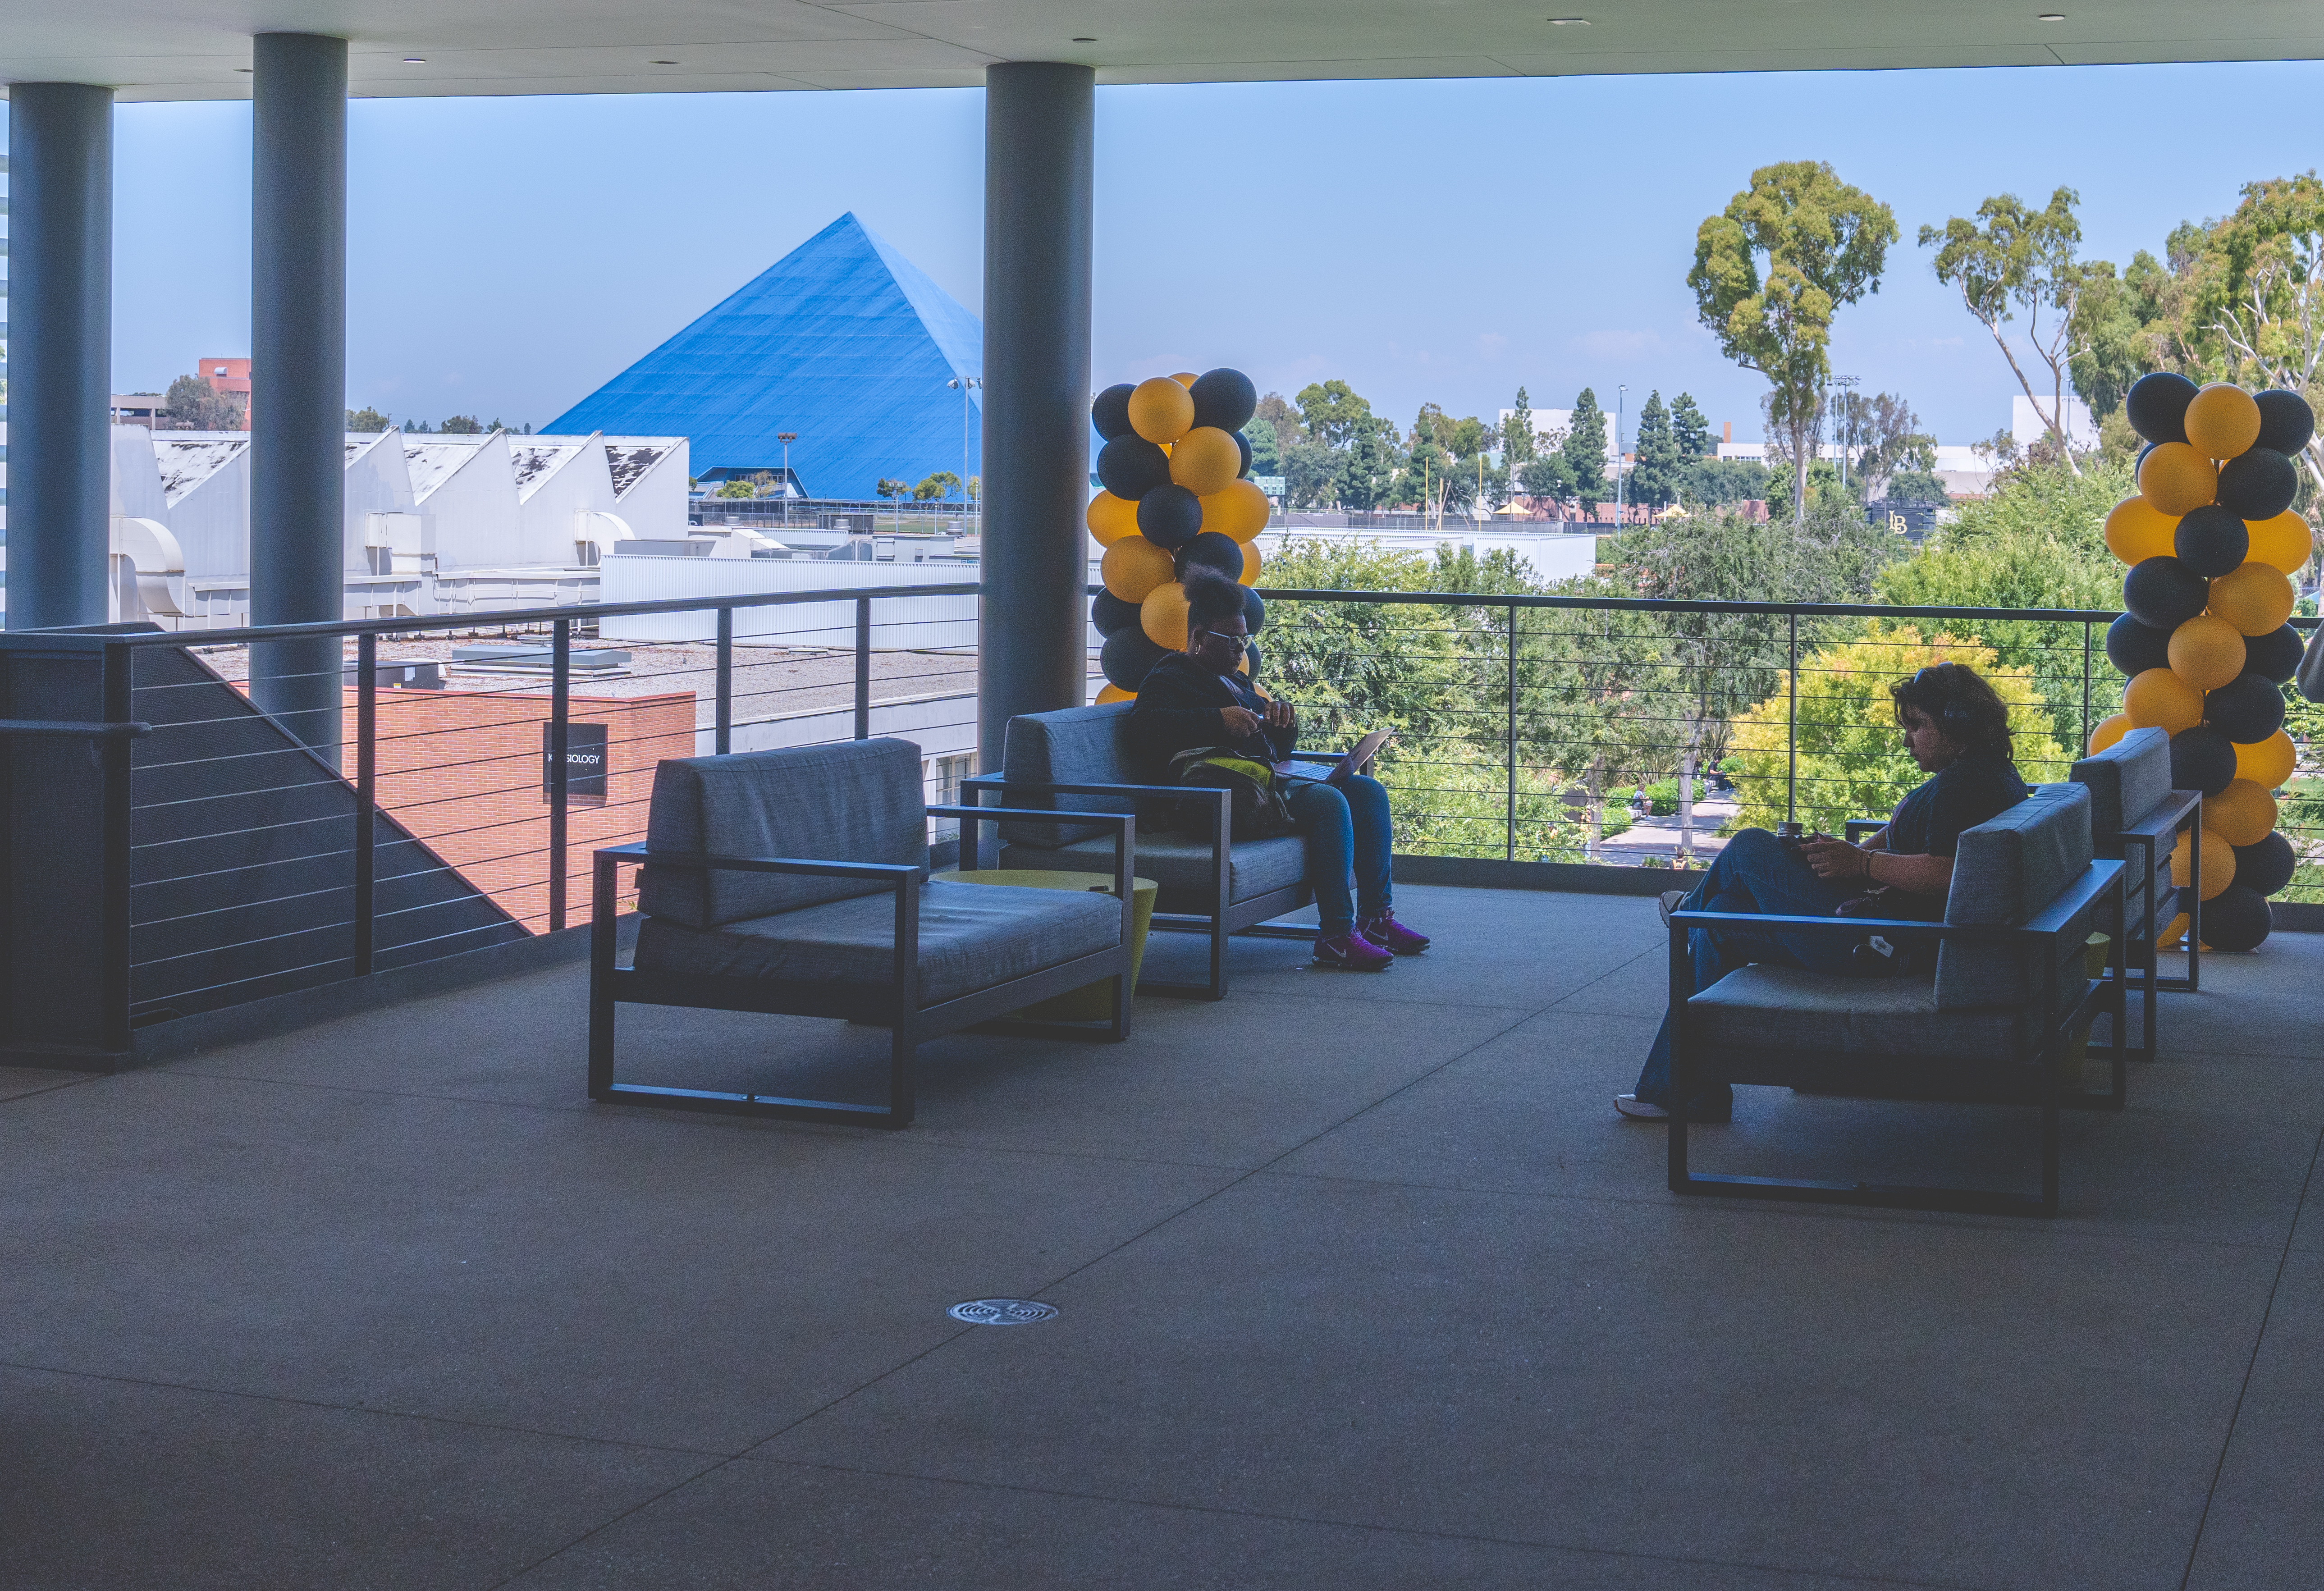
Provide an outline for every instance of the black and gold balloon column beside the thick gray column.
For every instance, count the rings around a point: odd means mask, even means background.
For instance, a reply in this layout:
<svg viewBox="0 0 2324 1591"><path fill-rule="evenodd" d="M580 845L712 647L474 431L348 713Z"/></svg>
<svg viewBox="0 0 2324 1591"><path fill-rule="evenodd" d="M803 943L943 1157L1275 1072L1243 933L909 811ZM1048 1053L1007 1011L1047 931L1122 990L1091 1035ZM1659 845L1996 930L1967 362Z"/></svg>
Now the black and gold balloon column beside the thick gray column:
<svg viewBox="0 0 2324 1591"><path fill-rule="evenodd" d="M1267 530L1267 492L1250 481L1243 425L1260 404L1250 376L1213 369L1111 386L1090 404L1106 446L1097 451L1090 534L1104 550L1106 590L1090 599L1090 622L1106 636L1099 701L1129 701L1146 671L1185 646L1185 574L1195 564L1243 583L1250 634L1267 622L1255 590ZM1257 678L1260 648L1243 671Z"/></svg>

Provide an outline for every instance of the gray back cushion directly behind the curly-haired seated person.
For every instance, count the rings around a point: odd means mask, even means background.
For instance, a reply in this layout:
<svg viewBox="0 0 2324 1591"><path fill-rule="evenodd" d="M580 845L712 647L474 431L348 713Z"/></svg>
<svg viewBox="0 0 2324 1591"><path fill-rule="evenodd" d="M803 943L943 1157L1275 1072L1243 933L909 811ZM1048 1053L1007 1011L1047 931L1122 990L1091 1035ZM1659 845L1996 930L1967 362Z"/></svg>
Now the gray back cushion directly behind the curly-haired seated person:
<svg viewBox="0 0 2324 1591"><path fill-rule="evenodd" d="M2089 790L2043 785L1999 818L1961 832L1952 859L1945 922L2017 924L2054 901L2089 869ZM2078 955L2082 929L2052 962ZM2043 957L2020 945L1964 945L1936 952L1936 1008L2022 1006L2038 992Z"/></svg>

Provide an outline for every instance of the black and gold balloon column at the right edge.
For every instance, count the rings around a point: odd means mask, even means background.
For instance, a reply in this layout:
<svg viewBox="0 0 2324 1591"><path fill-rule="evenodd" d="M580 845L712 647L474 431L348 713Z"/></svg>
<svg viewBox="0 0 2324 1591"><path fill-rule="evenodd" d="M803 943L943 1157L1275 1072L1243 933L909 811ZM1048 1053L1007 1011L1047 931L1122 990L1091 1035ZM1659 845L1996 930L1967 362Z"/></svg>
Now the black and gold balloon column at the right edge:
<svg viewBox="0 0 2324 1591"><path fill-rule="evenodd" d="M2215 381L2140 376L2129 420L2147 448L2138 495L2106 516L2106 546L2131 567L2129 609L2106 632L2106 657L2129 676L2122 711L2089 750L2129 729L2171 734L2171 785L2203 792L2203 832L2171 869L2189 883L2203 862L2201 927L2212 950L2252 950L2275 913L2268 897L2291 883L2291 841L2275 832L2275 790L2291 778L2282 683L2301 662L2291 576L2312 553L2308 520L2291 511L2291 458L2315 432L2298 393L2245 393ZM2182 913L2164 934L2175 943Z"/></svg>

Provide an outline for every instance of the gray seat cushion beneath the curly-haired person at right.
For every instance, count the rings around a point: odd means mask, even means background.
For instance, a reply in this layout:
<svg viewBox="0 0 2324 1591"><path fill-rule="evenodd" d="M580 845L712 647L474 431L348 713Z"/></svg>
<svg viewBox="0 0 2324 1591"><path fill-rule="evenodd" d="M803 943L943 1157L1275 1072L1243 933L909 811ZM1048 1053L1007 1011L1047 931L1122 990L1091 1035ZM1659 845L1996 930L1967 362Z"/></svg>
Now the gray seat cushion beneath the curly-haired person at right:
<svg viewBox="0 0 2324 1591"><path fill-rule="evenodd" d="M1741 966L1687 1001L1687 1043L1713 1048L2013 1061L2031 1041L2029 1008L1938 1010L1931 978Z"/></svg>

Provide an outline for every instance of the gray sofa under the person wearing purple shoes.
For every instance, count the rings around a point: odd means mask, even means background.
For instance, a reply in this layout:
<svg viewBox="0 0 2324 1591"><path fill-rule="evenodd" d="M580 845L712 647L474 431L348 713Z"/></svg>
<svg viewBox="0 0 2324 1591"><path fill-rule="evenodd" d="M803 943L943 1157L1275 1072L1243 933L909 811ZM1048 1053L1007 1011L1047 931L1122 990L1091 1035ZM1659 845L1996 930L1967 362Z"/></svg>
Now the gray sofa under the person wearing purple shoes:
<svg viewBox="0 0 2324 1591"><path fill-rule="evenodd" d="M1313 936L1313 929L1267 929L1271 917L1313 904L1315 890L1306 876L1306 841L1299 836L1236 841L1227 832L1225 790L1183 790L1143 785L1129 755L1129 701L1076 706L1057 713L1023 713L1009 720L1009 741L999 778L971 778L962 785L969 801L992 790L1018 808L1050 808L1060 799L1085 811L1139 813L1139 873L1153 878L1153 927L1178 934L1208 934L1211 978L1199 985L1141 980L1146 994L1227 994L1227 936L1276 934ZM1339 753L1299 753L1336 759ZM1178 813L1206 804L1208 834L1192 838L1178 827ZM1106 841L1095 825L1004 822L999 866L1081 869L1102 866ZM960 866L976 864L969 845L960 848Z"/></svg>

